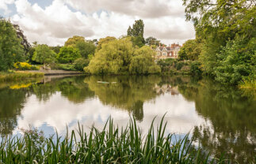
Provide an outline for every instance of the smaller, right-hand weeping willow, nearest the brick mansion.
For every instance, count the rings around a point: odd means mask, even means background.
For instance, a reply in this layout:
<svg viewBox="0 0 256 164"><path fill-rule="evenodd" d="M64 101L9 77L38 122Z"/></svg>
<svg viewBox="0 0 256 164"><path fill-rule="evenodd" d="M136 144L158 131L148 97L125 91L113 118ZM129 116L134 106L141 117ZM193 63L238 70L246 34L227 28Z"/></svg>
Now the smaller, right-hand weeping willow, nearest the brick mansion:
<svg viewBox="0 0 256 164"><path fill-rule="evenodd" d="M134 51L129 72L132 74L160 73L159 65L154 62L155 50L144 46Z"/></svg>

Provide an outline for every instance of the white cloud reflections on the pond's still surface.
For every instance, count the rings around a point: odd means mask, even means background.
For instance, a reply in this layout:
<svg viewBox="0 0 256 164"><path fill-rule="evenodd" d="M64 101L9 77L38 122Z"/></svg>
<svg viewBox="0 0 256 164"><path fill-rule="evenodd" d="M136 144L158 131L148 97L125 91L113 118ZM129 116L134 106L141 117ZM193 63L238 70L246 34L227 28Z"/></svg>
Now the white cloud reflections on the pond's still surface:
<svg viewBox="0 0 256 164"><path fill-rule="evenodd" d="M145 102L143 110L143 121L138 123L143 132L150 128L155 116L158 116L155 123L159 123L163 114L166 114L165 120L168 121L166 132L187 133L195 125L205 123L203 117L197 114L194 103L187 102L181 95L160 95ZM58 132L64 132L66 125L70 129L77 128L76 122L79 121L85 127L94 124L101 129L110 115L119 127L127 125L129 114L125 110L104 106L97 98L74 104L57 92L47 102L39 102L35 95L30 96L21 111L17 125L18 128L27 128L28 125L40 127L47 124L55 127Z"/></svg>

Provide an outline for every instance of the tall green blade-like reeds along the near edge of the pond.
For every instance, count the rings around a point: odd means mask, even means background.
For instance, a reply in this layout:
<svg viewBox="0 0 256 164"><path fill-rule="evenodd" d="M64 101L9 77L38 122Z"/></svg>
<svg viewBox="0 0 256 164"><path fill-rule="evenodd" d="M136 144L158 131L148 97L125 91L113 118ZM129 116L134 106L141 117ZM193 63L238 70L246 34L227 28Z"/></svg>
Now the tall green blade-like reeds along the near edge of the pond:
<svg viewBox="0 0 256 164"><path fill-rule="evenodd" d="M145 136L134 118L126 128L116 128L109 118L104 129L92 126L89 133L78 124L77 133L65 137L56 132L45 138L28 130L24 136L2 138L0 163L228 163L194 147L188 135L180 140L166 135L163 118L156 130L153 122Z"/></svg>

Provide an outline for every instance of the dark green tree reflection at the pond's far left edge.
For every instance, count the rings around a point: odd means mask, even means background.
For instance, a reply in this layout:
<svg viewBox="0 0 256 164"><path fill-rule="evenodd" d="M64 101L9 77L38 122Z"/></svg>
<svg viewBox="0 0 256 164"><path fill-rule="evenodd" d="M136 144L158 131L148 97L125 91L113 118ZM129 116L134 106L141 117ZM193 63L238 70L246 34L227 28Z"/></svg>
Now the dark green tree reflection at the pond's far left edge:
<svg viewBox="0 0 256 164"><path fill-rule="evenodd" d="M0 90L0 135L12 133L17 126L17 116L25 103L27 90Z"/></svg>

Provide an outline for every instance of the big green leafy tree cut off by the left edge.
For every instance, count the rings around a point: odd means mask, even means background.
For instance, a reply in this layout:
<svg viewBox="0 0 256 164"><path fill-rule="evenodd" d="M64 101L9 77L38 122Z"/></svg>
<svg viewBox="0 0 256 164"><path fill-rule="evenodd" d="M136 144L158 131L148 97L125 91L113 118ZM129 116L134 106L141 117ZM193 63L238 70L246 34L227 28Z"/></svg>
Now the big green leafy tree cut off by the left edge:
<svg viewBox="0 0 256 164"><path fill-rule="evenodd" d="M13 24L0 17L0 71L11 69L14 62L24 61L23 48Z"/></svg>

